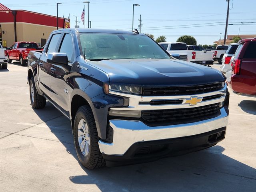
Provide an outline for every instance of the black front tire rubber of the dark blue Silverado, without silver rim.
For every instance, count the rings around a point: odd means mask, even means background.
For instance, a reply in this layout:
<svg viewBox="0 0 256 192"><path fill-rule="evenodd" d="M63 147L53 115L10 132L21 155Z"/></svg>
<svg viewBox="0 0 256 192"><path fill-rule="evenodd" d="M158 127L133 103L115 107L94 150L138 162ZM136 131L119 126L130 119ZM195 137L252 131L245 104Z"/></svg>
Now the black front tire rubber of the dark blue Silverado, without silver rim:
<svg viewBox="0 0 256 192"><path fill-rule="evenodd" d="M88 133L90 135L89 152L86 156L82 154L78 143L78 124L80 120L85 120L86 124L88 125ZM80 163L88 169L99 168L106 165L106 162L102 157L102 153L100 152L100 148L98 145L99 140L100 138L98 136L91 108L89 106L81 106L76 112L74 120L74 144L76 148L76 154Z"/></svg>

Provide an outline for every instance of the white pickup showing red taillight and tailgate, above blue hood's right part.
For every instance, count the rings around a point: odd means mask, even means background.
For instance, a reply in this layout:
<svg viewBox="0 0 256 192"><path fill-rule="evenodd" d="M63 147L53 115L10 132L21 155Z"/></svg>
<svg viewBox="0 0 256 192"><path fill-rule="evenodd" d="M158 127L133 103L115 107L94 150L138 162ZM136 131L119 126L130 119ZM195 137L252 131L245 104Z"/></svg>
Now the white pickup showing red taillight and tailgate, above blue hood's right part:
<svg viewBox="0 0 256 192"><path fill-rule="evenodd" d="M213 51L207 51L204 50L201 46L197 45L188 45L188 50L192 50L192 61L194 63L198 64L203 64L203 65L212 65L213 64L213 59L212 59L212 54Z"/></svg>

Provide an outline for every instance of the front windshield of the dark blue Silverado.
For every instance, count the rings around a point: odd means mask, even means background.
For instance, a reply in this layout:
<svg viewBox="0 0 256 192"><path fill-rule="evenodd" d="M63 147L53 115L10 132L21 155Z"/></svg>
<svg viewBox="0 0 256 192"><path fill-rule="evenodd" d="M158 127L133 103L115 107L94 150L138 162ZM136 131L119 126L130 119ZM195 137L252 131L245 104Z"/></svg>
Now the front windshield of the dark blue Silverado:
<svg viewBox="0 0 256 192"><path fill-rule="evenodd" d="M148 36L80 33L78 39L82 54L88 60L170 59L170 56Z"/></svg>

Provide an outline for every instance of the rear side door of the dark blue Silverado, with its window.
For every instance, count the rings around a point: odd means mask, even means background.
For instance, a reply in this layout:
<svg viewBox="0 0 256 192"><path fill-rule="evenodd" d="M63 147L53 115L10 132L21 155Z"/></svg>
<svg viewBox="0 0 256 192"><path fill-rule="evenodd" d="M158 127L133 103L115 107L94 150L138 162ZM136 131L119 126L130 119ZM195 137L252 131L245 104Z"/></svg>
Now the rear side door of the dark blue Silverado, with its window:
<svg viewBox="0 0 256 192"><path fill-rule="evenodd" d="M50 68L51 64L47 62L47 54L56 52L60 42L61 33L52 34L50 42L46 45L46 49L42 52L42 56L38 61L39 88L50 98Z"/></svg>

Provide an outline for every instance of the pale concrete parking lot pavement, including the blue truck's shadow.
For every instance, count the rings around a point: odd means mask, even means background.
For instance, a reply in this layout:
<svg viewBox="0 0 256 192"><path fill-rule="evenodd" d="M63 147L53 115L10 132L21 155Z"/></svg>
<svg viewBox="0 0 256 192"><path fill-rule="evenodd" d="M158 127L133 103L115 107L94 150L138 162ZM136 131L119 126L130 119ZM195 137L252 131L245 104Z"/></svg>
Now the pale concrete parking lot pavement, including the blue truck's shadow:
<svg viewBox="0 0 256 192"><path fill-rule="evenodd" d="M0 67L1 192L256 191L256 98L230 92L226 139L212 148L87 170L78 163L70 121L49 102L31 108L26 72L18 62Z"/></svg>

